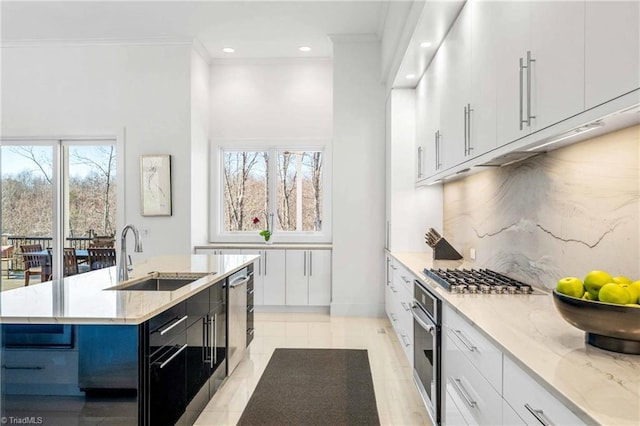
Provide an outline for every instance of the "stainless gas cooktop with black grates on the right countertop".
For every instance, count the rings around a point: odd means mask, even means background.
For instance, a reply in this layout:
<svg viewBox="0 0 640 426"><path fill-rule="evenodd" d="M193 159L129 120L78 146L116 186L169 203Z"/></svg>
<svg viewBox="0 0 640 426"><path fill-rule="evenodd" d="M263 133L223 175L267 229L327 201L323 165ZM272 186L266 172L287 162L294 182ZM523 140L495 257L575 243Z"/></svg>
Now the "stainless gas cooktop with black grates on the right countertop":
<svg viewBox="0 0 640 426"><path fill-rule="evenodd" d="M426 269L424 273L452 293L531 294L534 289L490 269Z"/></svg>

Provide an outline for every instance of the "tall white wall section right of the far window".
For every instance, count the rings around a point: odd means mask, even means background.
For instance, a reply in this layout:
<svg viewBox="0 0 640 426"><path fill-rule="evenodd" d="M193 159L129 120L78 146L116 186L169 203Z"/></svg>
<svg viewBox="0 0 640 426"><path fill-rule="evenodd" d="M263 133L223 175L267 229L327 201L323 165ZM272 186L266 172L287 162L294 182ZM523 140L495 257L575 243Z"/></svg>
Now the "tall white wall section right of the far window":
<svg viewBox="0 0 640 426"><path fill-rule="evenodd" d="M332 315L384 313L385 89L380 45L333 38Z"/></svg>

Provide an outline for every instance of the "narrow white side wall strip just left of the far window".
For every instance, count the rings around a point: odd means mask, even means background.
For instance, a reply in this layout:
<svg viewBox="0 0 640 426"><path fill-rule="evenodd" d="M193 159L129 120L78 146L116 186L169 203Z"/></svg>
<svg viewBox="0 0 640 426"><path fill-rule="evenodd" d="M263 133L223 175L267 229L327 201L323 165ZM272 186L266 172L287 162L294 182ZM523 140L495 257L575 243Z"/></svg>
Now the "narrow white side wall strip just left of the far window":
<svg viewBox="0 0 640 426"><path fill-rule="evenodd" d="M211 70L191 53L191 246L209 238L209 120Z"/></svg>

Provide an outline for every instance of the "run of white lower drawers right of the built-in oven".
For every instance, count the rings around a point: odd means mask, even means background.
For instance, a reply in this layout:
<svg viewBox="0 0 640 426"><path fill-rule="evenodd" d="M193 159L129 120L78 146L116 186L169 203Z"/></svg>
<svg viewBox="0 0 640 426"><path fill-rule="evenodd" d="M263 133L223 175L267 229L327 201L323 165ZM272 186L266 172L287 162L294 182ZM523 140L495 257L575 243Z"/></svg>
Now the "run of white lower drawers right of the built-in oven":
<svg viewBox="0 0 640 426"><path fill-rule="evenodd" d="M443 424L584 424L469 321L443 311Z"/></svg>

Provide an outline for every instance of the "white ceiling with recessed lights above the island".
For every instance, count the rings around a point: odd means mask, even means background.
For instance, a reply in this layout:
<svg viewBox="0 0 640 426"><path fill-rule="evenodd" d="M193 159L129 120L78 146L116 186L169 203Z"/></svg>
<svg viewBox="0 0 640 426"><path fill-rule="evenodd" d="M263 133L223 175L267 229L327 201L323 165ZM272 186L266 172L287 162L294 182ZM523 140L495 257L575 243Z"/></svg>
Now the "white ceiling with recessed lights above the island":
<svg viewBox="0 0 640 426"><path fill-rule="evenodd" d="M2 1L0 8L4 46L197 39L211 58L294 58L331 57L328 35L380 36L387 1ZM300 52L303 45L311 51Z"/></svg>

